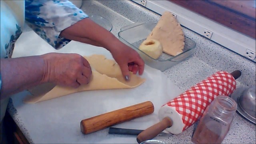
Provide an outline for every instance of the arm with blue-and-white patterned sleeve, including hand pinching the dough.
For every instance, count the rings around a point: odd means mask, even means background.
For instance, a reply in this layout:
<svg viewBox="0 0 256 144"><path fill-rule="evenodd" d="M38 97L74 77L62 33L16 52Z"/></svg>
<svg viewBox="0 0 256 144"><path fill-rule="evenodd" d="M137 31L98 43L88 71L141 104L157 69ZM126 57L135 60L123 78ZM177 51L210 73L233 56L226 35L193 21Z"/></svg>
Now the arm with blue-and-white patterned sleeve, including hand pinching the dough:
<svg viewBox="0 0 256 144"><path fill-rule="evenodd" d="M99 26L69 1L26 0L27 24L54 48L70 40L101 46L109 50L125 78L129 71L143 73L144 61L111 32Z"/></svg>

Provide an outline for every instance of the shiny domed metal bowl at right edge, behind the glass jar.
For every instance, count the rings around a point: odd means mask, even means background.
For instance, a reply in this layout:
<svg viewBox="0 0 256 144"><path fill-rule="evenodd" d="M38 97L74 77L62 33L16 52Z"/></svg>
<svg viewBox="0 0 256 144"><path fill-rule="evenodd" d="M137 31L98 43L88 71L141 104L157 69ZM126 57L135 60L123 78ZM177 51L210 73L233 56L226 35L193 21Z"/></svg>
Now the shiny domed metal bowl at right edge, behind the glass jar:
<svg viewBox="0 0 256 144"><path fill-rule="evenodd" d="M252 118L256 118L256 87L252 86L244 90L243 94L238 98L240 107Z"/></svg>

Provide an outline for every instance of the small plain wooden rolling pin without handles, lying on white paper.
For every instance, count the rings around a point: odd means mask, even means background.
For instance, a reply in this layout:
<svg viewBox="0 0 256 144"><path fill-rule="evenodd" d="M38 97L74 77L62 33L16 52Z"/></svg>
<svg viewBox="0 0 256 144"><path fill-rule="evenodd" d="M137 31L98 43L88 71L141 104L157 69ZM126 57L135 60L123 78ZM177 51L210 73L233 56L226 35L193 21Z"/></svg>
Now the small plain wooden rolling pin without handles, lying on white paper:
<svg viewBox="0 0 256 144"><path fill-rule="evenodd" d="M140 104L84 119L80 122L80 128L83 134L90 134L122 122L127 122L134 118L152 114L153 112L154 105L152 102L142 102Z"/></svg>

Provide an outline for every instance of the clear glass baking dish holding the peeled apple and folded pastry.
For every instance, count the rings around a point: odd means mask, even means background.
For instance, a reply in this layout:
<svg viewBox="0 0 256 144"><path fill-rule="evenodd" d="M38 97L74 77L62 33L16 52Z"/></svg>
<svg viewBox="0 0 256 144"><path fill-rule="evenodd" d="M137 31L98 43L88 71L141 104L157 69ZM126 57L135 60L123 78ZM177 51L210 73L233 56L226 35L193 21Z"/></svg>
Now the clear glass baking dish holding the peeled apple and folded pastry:
<svg viewBox="0 0 256 144"><path fill-rule="evenodd" d="M118 37L126 45L136 50L144 60L145 64L161 71L174 66L178 62L194 54L196 51L196 43L186 36L184 50L182 53L176 56L170 56L169 54L163 52L158 59L153 59L146 53L139 50L138 47L144 40L146 40L156 24L157 22L142 22L122 27L120 32L118 32Z"/></svg>

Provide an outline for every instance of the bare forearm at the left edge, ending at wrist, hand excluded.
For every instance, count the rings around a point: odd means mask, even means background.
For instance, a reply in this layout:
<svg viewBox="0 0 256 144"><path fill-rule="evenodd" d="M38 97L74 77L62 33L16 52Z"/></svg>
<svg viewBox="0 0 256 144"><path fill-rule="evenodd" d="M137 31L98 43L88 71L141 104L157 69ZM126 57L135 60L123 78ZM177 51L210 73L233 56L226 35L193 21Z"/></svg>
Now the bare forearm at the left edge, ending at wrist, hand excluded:
<svg viewBox="0 0 256 144"><path fill-rule="evenodd" d="M31 86L41 84L44 80L44 60L40 56L22 58L1 58L1 100Z"/></svg>

